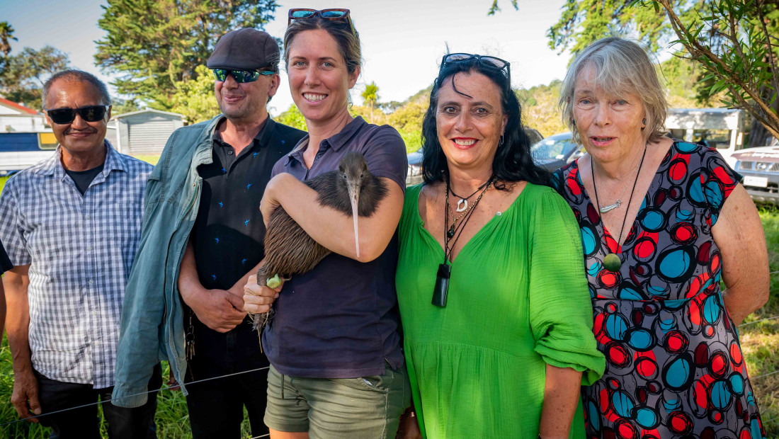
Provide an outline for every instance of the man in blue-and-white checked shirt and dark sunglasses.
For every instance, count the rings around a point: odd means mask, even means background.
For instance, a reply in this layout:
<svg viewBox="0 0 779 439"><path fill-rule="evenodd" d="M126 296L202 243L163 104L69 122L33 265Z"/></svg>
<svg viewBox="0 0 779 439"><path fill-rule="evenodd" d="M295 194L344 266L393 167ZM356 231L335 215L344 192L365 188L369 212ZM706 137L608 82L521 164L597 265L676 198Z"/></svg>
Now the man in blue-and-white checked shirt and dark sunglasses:
<svg viewBox="0 0 779 439"><path fill-rule="evenodd" d="M30 421L51 427L51 437L97 438L93 403L111 398L122 299L152 167L105 140L111 97L89 73L51 76L43 105L57 151L11 177L0 195L0 241L16 265L3 276L11 401L22 418L40 415ZM157 365L144 406L103 404L112 438L157 436L160 384Z"/></svg>

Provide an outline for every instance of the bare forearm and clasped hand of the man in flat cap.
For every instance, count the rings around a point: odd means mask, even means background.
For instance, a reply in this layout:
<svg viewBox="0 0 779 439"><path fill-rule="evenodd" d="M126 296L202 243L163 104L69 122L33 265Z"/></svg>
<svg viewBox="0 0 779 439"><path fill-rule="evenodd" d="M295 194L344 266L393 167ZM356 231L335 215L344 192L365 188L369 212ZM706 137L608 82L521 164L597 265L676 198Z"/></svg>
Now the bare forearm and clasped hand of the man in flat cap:
<svg viewBox="0 0 779 439"><path fill-rule="evenodd" d="M241 278L243 279L243 278ZM239 281L240 283L241 281ZM243 311L243 290L207 290L200 284L195 265L195 249L192 242L182 258L182 268L178 273L178 292L188 307L192 308L199 321L217 332L227 332L235 328L246 317Z"/></svg>

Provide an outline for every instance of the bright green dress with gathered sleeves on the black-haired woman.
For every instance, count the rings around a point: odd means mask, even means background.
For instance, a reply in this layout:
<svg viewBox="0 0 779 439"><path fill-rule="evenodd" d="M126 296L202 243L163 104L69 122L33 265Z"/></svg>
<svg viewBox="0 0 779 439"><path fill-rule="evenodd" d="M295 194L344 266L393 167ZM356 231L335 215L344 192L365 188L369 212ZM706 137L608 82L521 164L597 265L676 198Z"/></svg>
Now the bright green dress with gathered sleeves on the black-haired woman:
<svg viewBox="0 0 779 439"><path fill-rule="evenodd" d="M406 191L396 284L422 434L535 439L545 364L583 371L583 385L605 367L573 213L551 188L528 183L451 263L440 308L431 300L443 249L422 227L420 189ZM571 437L584 437L581 404Z"/></svg>

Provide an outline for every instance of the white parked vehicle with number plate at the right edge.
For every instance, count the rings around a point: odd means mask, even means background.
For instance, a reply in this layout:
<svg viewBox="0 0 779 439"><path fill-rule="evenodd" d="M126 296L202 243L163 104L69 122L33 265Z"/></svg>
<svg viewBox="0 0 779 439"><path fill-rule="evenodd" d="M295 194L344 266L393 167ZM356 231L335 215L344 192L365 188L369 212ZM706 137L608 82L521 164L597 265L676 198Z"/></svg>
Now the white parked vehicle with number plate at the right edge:
<svg viewBox="0 0 779 439"><path fill-rule="evenodd" d="M741 184L755 202L779 205L779 146L760 146L736 151L735 167Z"/></svg>

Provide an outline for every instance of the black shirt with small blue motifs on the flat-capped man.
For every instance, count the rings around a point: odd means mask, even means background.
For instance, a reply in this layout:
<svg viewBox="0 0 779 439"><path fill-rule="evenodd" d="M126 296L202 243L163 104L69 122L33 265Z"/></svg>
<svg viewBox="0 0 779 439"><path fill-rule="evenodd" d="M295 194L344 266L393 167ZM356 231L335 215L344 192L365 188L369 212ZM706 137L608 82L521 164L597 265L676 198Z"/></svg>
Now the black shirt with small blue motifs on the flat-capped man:
<svg viewBox="0 0 779 439"><path fill-rule="evenodd" d="M200 283L209 290L231 288L265 257L265 224L259 202L273 163L287 156L305 135L267 118L252 143L236 154L233 146L222 140L218 126L212 137L213 163L197 169L203 177L203 190L191 237ZM197 359L224 364L259 351L248 317L226 333L207 328L197 316L192 323Z"/></svg>

